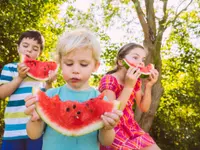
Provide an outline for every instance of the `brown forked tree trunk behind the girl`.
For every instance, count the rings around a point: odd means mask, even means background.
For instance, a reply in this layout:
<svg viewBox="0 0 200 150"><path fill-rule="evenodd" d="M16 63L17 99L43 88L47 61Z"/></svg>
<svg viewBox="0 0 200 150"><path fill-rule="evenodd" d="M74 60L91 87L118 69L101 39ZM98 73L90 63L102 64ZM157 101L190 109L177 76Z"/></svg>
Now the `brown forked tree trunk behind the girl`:
<svg viewBox="0 0 200 150"><path fill-rule="evenodd" d="M160 24L158 30L156 28L155 23L155 12L154 12L154 0L145 0L146 7L146 15L143 13L142 8L140 6L140 2L138 0L132 0L135 4L136 12L138 15L138 19L140 20L143 32L144 32L144 47L148 50L148 56L146 59L146 63L153 63L155 68L159 72L159 78L156 84L152 88L152 103L148 112L142 113L138 108L136 108L135 119L140 124L140 126L148 132L153 123L153 119L158 108L160 98L163 93L163 87L161 85L161 42L163 37L163 32L165 31L165 27L163 24L166 21L165 16L163 17L163 22ZM166 6L165 1L165 5Z"/></svg>

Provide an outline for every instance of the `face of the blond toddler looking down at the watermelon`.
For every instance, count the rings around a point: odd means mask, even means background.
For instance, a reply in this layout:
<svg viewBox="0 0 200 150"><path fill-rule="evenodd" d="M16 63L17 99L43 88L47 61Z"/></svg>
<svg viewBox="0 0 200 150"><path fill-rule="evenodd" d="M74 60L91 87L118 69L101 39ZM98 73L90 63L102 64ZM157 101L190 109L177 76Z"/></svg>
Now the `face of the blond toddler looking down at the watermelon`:
<svg viewBox="0 0 200 150"><path fill-rule="evenodd" d="M61 57L63 77L75 90L87 89L88 79L98 67L99 63L95 61L89 49L77 49Z"/></svg>

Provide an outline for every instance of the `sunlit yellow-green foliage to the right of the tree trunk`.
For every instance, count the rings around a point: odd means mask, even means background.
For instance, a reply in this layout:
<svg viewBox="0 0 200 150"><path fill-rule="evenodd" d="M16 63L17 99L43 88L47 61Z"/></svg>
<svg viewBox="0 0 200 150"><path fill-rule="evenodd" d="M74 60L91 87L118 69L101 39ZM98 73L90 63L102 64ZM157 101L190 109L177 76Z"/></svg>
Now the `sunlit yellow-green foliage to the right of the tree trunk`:
<svg viewBox="0 0 200 150"><path fill-rule="evenodd" d="M183 13L163 47L163 86L152 133L163 149L200 149L200 48L198 11Z"/></svg>

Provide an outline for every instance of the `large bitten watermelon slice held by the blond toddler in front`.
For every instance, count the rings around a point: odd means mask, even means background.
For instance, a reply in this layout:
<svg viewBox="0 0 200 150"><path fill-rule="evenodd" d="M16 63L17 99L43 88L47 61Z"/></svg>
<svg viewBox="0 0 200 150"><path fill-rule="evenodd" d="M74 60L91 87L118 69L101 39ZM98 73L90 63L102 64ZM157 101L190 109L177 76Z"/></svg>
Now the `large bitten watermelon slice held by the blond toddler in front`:
<svg viewBox="0 0 200 150"><path fill-rule="evenodd" d="M119 101L105 101L104 94L85 102L61 101L56 95L48 97L43 91L37 92L36 111L44 122L54 130L67 136L81 136L102 128L101 115L119 109Z"/></svg>

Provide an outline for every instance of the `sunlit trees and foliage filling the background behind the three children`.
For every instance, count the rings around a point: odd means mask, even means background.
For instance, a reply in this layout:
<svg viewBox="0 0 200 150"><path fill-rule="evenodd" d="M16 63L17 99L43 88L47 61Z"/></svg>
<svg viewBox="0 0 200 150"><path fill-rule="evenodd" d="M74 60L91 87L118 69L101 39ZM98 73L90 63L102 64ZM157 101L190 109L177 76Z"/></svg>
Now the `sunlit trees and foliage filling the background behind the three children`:
<svg viewBox="0 0 200 150"><path fill-rule="evenodd" d="M151 110L141 113L136 109L136 119L145 130L150 129L162 149L200 149L200 50L194 45L194 39L200 38L199 1L193 1L198 9L188 10L192 0L181 1L187 2L183 7L180 3L171 8L168 0L104 0L100 5L92 3L86 12L77 9L73 0L0 2L1 68L8 62L18 61L16 40L27 29L42 32L46 44L40 59L48 60L53 59L58 36L64 30L86 27L96 33L103 50L101 63L105 68L93 74L90 80L97 87L102 75L114 67L117 50L127 42L143 41L150 54L147 63L153 62L161 75L153 90ZM160 5L156 5L158 3ZM59 4L66 6L62 14ZM113 27L126 33L121 42L113 43L107 34L107 30ZM165 37L169 27L171 34ZM59 71L54 86L63 84Z"/></svg>

